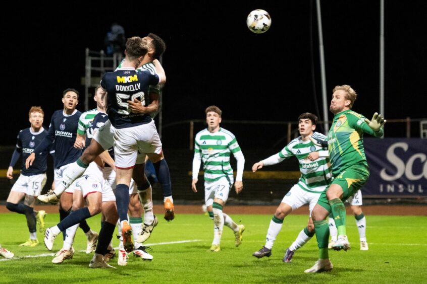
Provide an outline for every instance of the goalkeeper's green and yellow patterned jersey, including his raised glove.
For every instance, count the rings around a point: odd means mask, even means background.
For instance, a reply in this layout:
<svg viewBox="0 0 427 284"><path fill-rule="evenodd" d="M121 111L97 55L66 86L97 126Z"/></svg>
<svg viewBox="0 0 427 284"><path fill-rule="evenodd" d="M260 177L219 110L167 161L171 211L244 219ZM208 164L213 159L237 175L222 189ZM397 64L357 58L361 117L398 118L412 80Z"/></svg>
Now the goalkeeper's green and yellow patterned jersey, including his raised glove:
<svg viewBox="0 0 427 284"><path fill-rule="evenodd" d="M379 131L372 130L365 122L365 117L352 110L345 110L334 116L328 133L328 151L334 177L354 165L364 165L368 169L363 149L363 133L381 137L383 128Z"/></svg>

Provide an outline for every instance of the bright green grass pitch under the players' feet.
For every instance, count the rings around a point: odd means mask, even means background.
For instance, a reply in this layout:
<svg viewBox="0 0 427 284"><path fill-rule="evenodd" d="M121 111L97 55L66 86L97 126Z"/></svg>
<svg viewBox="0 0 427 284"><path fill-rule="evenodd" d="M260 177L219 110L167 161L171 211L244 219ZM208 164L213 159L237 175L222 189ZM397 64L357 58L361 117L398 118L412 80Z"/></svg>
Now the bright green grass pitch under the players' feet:
<svg viewBox="0 0 427 284"><path fill-rule="evenodd" d="M118 269L90 269L91 255L76 252L72 260L62 264L51 263L52 256L62 246L62 236L49 252L44 247L43 235L34 248L19 247L28 239L24 215L1 214L0 244L15 253L12 260L0 258L2 283L421 283L427 281L427 223L425 217L366 216L368 251L359 250L358 233L354 219L347 218L347 233L352 244L350 251L330 251L334 264L331 272L306 274L304 270L317 260L315 237L295 252L292 263L283 263L284 250L306 226L306 215L290 215L285 219L281 233L270 258L257 259L252 253L264 244L271 215L232 215L234 221L244 224L243 243L234 246L234 234L224 227L219 253L208 249L213 237L212 221L203 214L177 215L167 223L163 219L147 240L154 259L142 261L130 255L128 266L117 265L117 256L110 264ZM49 214L46 225L53 226L58 214ZM99 216L88 220L99 232ZM187 241L187 242L184 242ZM177 243L170 243L177 242ZM178 243L181 242L181 243ZM168 244L169 243L169 244ZM118 240L114 239L114 245ZM76 251L86 248L86 239L79 229ZM37 257L29 257L37 256Z"/></svg>

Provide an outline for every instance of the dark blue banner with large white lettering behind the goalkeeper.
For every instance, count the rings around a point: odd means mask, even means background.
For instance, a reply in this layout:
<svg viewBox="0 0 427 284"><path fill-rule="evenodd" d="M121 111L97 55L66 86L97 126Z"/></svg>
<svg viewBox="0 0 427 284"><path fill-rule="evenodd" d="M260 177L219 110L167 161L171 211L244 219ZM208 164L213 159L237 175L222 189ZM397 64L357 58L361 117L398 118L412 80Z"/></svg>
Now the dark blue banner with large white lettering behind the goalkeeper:
<svg viewBox="0 0 427 284"><path fill-rule="evenodd" d="M427 139L363 140L370 168L364 195L427 196Z"/></svg>

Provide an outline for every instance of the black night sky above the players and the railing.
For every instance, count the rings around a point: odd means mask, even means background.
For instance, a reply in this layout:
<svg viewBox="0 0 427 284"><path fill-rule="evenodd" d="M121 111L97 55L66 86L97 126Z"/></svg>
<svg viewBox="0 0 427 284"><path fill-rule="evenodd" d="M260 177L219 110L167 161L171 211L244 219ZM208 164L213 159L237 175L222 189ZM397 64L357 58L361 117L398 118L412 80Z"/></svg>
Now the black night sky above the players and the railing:
<svg viewBox="0 0 427 284"><path fill-rule="evenodd" d="M164 124L203 118L210 104L223 109L225 121L293 121L302 112L317 113L315 95L322 109L311 0L244 1L238 6L230 1L70 3L49 9L19 7L8 11L13 21L2 17L7 105L2 128L8 129L3 145L13 145L18 130L29 126L31 105L44 108L47 126L52 112L62 108L64 89L84 92L80 78L85 48L102 49L114 21L125 28L127 37L153 32L167 43ZM56 12L47 13L51 9ZM246 27L246 16L254 9L272 16L265 34L253 34ZM368 117L379 110L379 9L379 0L322 1L328 100L334 86L351 85L359 94L353 109ZM427 117L426 14L423 0L386 1L386 118ZM26 28L18 29L22 23ZM83 98L78 108L83 110ZM234 127L229 129L235 132ZM389 126L386 133L403 135L394 128ZM167 128L164 135L180 129Z"/></svg>

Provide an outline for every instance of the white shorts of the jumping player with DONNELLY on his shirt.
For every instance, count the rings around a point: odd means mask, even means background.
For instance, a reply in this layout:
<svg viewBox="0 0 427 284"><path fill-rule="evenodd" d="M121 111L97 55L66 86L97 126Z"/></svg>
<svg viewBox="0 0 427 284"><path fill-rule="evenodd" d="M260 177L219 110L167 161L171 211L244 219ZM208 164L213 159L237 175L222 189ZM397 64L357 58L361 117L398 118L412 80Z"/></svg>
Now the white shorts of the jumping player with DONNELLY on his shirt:
<svg viewBox="0 0 427 284"><path fill-rule="evenodd" d="M116 129L114 134L114 156L116 167L130 169L136 164L138 148L141 153L162 152L162 141L158 136L154 121L150 123Z"/></svg>

